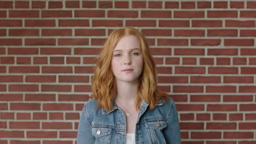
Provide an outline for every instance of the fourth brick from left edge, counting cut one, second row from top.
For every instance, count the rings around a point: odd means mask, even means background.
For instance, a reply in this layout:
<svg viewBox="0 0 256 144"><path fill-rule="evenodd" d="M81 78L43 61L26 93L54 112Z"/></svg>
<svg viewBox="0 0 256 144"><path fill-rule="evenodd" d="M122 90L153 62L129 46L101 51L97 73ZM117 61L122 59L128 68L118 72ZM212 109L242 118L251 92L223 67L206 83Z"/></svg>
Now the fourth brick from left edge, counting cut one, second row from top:
<svg viewBox="0 0 256 144"><path fill-rule="evenodd" d="M74 10L74 17L105 17L104 10Z"/></svg>

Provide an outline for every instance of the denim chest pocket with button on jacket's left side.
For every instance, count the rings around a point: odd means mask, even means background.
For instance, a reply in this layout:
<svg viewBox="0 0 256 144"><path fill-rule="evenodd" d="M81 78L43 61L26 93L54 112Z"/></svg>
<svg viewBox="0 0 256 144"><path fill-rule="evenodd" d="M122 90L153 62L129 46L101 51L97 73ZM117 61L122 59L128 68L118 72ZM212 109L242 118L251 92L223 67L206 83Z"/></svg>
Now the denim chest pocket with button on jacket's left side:
<svg viewBox="0 0 256 144"><path fill-rule="evenodd" d="M95 143L110 143L112 128L92 127L92 135L95 136Z"/></svg>

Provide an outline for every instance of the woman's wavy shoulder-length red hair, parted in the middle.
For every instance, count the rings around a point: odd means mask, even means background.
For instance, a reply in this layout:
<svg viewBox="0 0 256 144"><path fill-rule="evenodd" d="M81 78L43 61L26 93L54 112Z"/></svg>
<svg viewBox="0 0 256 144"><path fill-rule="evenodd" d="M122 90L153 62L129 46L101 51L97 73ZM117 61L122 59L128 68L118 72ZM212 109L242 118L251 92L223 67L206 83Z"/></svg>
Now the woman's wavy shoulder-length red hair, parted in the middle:
<svg viewBox="0 0 256 144"><path fill-rule="evenodd" d="M112 101L117 95L117 83L112 72L111 61L115 46L125 35L135 35L141 41L143 56L143 70L139 79L137 91L136 109L139 110L142 100L149 104L150 109L161 98L168 99L167 94L157 88L157 71L153 57L149 52L149 45L144 35L137 29L125 27L110 33L106 43L103 45L100 55L96 59L95 75L92 77L92 98L95 98L98 106L105 110L113 109Z"/></svg>

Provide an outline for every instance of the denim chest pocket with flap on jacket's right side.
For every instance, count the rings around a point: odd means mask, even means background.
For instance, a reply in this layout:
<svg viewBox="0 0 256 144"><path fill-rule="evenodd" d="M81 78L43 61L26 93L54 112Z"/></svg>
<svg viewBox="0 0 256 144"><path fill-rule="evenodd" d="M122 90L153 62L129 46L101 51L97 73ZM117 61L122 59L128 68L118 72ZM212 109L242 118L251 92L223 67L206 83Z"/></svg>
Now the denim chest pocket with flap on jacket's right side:
<svg viewBox="0 0 256 144"><path fill-rule="evenodd" d="M166 143L164 134L162 134L162 129L167 127L165 120L145 122L145 127L153 143Z"/></svg>

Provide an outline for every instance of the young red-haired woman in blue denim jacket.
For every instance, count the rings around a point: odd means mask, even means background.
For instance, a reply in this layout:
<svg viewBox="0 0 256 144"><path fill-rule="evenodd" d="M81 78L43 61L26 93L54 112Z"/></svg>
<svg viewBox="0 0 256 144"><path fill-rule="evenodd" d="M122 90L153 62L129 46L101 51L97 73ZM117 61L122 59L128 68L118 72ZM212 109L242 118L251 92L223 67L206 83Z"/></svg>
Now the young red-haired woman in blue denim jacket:
<svg viewBox="0 0 256 144"><path fill-rule="evenodd" d="M144 35L113 31L96 60L94 99L81 113L77 143L181 143L176 105L156 81Z"/></svg>

